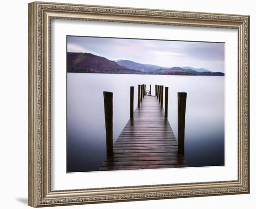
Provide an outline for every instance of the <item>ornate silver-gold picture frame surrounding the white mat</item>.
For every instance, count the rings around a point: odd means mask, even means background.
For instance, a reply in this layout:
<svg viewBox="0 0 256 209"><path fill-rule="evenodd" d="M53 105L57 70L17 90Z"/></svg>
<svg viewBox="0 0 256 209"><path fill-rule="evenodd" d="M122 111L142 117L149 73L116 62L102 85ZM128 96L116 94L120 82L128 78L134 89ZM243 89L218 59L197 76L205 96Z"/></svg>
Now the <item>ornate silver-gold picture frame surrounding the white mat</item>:
<svg viewBox="0 0 256 209"><path fill-rule="evenodd" d="M52 189L51 23L56 19L236 29L237 179ZM246 193L249 193L249 16L50 2L28 4L28 205L44 207Z"/></svg>

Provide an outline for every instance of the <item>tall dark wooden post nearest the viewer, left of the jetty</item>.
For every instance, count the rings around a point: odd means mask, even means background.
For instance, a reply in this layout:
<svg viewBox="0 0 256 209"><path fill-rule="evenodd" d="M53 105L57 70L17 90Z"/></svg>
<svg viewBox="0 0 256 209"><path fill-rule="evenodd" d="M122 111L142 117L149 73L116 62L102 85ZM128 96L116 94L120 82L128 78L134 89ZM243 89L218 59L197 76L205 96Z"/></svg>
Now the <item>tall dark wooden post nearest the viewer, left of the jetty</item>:
<svg viewBox="0 0 256 209"><path fill-rule="evenodd" d="M113 92L103 91L107 156L113 156Z"/></svg>

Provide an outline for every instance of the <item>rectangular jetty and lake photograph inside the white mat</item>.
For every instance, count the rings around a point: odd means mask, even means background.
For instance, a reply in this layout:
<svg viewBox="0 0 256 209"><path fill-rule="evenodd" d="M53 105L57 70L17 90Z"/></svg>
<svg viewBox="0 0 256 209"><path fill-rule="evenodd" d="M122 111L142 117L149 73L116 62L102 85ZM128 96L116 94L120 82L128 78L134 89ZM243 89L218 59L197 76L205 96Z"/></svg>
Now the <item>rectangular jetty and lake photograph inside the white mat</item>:
<svg viewBox="0 0 256 209"><path fill-rule="evenodd" d="M225 43L66 43L67 173L225 166Z"/></svg>

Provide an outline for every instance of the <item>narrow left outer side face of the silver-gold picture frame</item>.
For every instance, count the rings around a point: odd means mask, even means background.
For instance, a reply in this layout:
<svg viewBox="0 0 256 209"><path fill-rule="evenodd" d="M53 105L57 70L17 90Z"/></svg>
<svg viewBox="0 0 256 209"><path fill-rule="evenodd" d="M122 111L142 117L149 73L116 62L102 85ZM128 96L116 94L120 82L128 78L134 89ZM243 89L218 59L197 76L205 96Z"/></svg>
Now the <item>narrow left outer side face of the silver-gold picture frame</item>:
<svg viewBox="0 0 256 209"><path fill-rule="evenodd" d="M28 4L28 205L37 206L36 4Z"/></svg>

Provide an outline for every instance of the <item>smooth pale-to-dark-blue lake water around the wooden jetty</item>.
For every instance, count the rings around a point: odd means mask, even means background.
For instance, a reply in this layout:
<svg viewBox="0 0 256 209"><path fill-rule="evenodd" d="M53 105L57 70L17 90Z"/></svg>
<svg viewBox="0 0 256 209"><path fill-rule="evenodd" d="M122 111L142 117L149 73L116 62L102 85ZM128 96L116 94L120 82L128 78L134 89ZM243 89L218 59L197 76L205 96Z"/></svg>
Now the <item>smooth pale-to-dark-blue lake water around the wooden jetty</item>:
<svg viewBox="0 0 256 209"><path fill-rule="evenodd" d="M67 73L67 172L97 171L106 157L103 91L113 92L114 142L129 119L130 86L169 87L168 120L177 137L177 92L187 92L189 167L224 165L224 77ZM164 104L164 103L163 103Z"/></svg>

